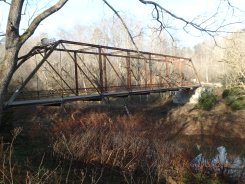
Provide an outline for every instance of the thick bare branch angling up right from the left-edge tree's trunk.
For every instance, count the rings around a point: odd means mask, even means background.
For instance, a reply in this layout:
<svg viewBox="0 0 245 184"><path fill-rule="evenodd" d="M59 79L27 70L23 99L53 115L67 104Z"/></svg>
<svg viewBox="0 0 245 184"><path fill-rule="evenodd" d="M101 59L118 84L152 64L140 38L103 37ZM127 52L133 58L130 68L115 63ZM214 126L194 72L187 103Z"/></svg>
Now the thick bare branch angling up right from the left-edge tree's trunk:
<svg viewBox="0 0 245 184"><path fill-rule="evenodd" d="M55 5L48 8L47 10L43 11L41 14L39 14L30 24L30 26L27 28L27 30L20 36L20 42L24 43L31 35L33 35L34 31L37 29L38 25L47 17L52 15L53 13L57 12L59 9L61 9L68 0L59 0Z"/></svg>

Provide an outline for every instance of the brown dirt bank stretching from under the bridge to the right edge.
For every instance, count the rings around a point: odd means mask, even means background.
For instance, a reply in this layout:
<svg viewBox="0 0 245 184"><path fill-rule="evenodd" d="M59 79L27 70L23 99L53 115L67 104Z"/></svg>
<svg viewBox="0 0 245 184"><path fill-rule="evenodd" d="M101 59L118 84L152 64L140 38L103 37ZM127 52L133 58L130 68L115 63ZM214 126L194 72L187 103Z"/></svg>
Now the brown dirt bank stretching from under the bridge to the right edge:
<svg viewBox="0 0 245 184"><path fill-rule="evenodd" d="M232 111L219 102L211 111L194 105L174 105L171 101L159 104L129 104L131 115L143 116L147 123L166 125L171 135L207 135L245 140L245 110ZM127 115L123 105L79 102L64 107L24 107L12 111L14 126L31 126L32 131L48 128L52 121L63 121L87 112L106 112L111 116ZM33 127L34 125L34 127Z"/></svg>

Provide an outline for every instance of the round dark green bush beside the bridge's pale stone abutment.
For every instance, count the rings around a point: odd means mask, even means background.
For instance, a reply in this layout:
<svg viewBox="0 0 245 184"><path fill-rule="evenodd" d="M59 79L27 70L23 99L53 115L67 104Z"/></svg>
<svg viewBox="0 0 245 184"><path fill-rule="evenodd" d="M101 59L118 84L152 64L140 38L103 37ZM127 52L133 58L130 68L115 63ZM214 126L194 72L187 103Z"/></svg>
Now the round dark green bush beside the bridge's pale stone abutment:
<svg viewBox="0 0 245 184"><path fill-rule="evenodd" d="M217 97L212 91L205 90L198 99L198 107L203 110L211 110L217 103Z"/></svg>

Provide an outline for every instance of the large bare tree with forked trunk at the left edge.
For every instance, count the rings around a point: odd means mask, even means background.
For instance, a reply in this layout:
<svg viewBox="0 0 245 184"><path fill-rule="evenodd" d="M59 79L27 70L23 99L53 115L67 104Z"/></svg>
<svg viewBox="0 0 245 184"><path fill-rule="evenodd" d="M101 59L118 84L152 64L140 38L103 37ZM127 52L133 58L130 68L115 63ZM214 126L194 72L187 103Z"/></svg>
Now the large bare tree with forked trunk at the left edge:
<svg viewBox="0 0 245 184"><path fill-rule="evenodd" d="M44 10L33 19L29 27L21 35L20 22L25 0L4 1L10 5L10 9L5 33L5 55L0 61L0 119L7 88L16 69L20 48L33 35L41 21L62 8L67 1L59 0L50 8Z"/></svg>

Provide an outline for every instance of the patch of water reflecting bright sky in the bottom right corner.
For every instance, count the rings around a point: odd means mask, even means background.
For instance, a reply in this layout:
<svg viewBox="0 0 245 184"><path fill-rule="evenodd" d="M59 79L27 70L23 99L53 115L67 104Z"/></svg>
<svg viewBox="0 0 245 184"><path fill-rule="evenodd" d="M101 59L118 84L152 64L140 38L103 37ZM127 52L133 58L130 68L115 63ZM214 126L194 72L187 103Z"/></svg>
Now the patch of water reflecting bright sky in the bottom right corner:
<svg viewBox="0 0 245 184"><path fill-rule="evenodd" d="M217 148L218 154L213 158L206 158L203 154L197 155L190 163L195 171L204 171L207 174L228 176L234 181L245 182L245 158L229 155L224 146Z"/></svg>

